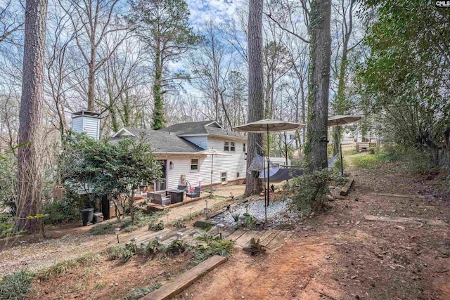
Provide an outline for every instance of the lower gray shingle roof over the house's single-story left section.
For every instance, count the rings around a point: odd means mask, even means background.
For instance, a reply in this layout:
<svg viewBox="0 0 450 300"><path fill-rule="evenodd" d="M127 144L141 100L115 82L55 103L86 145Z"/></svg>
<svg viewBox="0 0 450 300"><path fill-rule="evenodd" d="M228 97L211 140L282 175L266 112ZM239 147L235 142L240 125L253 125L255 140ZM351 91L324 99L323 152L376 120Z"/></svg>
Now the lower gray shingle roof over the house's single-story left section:
<svg viewBox="0 0 450 300"><path fill-rule="evenodd" d="M144 139L150 143L155 153L195 153L203 151L197 145L179 138L175 133L162 130L125 128L135 136L141 136L144 133ZM117 141L120 137L112 138Z"/></svg>

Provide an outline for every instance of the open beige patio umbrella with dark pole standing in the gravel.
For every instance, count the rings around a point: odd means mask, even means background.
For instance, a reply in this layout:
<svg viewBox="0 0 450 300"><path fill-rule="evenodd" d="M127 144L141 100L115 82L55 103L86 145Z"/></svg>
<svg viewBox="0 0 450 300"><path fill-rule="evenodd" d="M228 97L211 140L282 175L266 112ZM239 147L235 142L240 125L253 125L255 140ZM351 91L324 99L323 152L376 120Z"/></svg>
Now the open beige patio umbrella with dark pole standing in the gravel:
<svg viewBox="0 0 450 300"><path fill-rule="evenodd" d="M277 119L262 119L259 121L251 122L248 124L243 124L240 126L233 127L236 131L245 131L252 133L266 133L267 134L267 171L269 171L269 132L274 131L289 131L293 129L303 128L304 124L285 122ZM264 172L265 172L264 168ZM265 176L264 176L265 177ZM270 176L267 176L267 188L266 188L266 205L269 205L270 201ZM266 218L267 221L267 218Z"/></svg>

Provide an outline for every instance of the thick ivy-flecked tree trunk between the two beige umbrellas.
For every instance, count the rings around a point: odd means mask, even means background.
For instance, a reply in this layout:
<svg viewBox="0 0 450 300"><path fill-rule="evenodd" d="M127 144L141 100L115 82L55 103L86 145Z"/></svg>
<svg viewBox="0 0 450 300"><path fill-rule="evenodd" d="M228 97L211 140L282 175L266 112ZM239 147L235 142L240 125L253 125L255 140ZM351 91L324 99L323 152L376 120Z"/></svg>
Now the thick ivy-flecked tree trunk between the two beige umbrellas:
<svg viewBox="0 0 450 300"><path fill-rule="evenodd" d="M328 88L330 86L330 0L311 1L309 15L309 96L307 154L309 169L321 170L327 164Z"/></svg>

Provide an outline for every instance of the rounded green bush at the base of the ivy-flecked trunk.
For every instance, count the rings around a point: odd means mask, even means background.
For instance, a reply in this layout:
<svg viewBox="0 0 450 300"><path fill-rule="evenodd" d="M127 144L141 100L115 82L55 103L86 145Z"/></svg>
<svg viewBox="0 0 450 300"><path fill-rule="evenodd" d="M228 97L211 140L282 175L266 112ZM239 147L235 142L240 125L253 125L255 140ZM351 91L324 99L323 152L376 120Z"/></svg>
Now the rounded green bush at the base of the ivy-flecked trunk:
<svg viewBox="0 0 450 300"><path fill-rule="evenodd" d="M328 183L331 180L333 176L327 169L293 178L289 185L291 192L295 194L293 203L297 209L304 215L321 210L325 204L324 197L329 191Z"/></svg>

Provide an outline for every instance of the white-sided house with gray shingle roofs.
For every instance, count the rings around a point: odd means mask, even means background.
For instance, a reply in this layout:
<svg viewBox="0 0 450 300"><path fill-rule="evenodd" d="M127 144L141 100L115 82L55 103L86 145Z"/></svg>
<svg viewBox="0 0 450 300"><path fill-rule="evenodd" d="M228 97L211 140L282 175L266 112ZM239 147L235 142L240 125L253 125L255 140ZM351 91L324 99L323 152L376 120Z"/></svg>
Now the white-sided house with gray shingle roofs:
<svg viewBox="0 0 450 300"><path fill-rule="evenodd" d="M176 188L186 181L191 186L210 185L211 171L213 184L245 178L247 138L215 121L179 123L158 131L122 128L112 140L141 134L162 165L165 181L156 183L155 190ZM213 158L202 153L212 149L229 155Z"/></svg>

